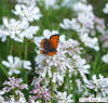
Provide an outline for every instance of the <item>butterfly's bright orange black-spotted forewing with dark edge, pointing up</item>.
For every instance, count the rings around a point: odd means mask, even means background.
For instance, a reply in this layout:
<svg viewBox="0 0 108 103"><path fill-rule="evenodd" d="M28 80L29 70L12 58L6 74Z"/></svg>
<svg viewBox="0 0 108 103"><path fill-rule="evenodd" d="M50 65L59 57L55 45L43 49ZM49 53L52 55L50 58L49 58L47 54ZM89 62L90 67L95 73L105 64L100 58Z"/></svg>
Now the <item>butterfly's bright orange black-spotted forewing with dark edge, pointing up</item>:
<svg viewBox="0 0 108 103"><path fill-rule="evenodd" d="M50 37L50 43L52 48L57 49L59 42L59 36L58 35L53 35Z"/></svg>

